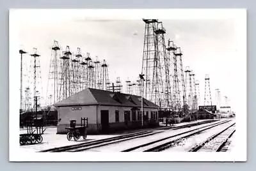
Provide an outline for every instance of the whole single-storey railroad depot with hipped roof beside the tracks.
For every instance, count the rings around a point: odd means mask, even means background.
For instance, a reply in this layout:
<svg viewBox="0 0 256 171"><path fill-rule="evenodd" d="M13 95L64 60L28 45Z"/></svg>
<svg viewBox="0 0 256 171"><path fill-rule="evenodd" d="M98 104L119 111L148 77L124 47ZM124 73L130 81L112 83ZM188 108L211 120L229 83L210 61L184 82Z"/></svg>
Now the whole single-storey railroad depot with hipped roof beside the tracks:
<svg viewBox="0 0 256 171"><path fill-rule="evenodd" d="M79 125L88 117L88 133L141 127L141 97L100 89L84 89L55 103L58 111L57 133L67 133L70 120ZM158 126L158 106L143 98L143 126Z"/></svg>

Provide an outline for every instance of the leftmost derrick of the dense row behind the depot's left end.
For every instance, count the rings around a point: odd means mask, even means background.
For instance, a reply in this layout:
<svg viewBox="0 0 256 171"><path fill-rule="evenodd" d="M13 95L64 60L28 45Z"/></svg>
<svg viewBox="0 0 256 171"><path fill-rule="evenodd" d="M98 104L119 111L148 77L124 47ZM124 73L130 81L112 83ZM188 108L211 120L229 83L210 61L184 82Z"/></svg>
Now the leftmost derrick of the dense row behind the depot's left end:
<svg viewBox="0 0 256 171"><path fill-rule="evenodd" d="M60 46L58 41L54 40L52 45L52 54L51 54L51 61L50 61L50 68L49 68L49 75L48 75L48 84L47 84L47 105L52 105L52 103L56 103L59 98L58 90L59 90L59 67L60 61L58 56L60 56ZM49 95L49 96L48 96Z"/></svg>

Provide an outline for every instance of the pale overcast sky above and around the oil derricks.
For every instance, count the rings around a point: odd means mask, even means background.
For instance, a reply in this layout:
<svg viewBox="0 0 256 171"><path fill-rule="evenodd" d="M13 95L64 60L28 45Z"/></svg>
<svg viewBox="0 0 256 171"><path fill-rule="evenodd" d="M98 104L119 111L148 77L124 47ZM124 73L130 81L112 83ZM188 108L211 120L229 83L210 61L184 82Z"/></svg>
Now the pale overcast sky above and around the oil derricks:
<svg viewBox="0 0 256 171"><path fill-rule="evenodd" d="M142 17L141 17L142 18ZM244 61L239 56L239 39L232 19L170 19L161 20L166 29L166 41L175 41L184 54L183 66L189 66L200 81L200 98L204 102L204 77L210 75L213 104L216 102L215 89L221 96L228 96L231 107L236 111L244 91L239 92L241 78L246 78ZM142 20L90 20L83 16L52 17L51 15L20 16L16 22L17 43L31 52L38 48L41 55L41 70L44 93L47 73L54 40L61 47L70 46L72 52L77 47L83 54L90 52L109 64L109 78L113 82L120 77L136 80L141 72L143 56L143 36L145 23ZM17 49L19 56L19 49ZM30 57L30 56L26 56ZM241 65L242 66L241 66ZM242 70L242 71L241 71ZM246 73L246 72L245 72ZM125 89L125 84L124 89ZM241 94L239 94L241 93ZM202 104L201 103L201 104Z"/></svg>

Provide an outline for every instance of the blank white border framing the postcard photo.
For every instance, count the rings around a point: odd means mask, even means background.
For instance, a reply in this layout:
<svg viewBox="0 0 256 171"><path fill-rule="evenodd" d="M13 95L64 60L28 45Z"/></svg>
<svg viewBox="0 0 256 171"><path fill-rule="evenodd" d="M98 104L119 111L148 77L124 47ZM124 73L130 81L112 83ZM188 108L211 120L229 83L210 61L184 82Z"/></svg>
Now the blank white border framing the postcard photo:
<svg viewBox="0 0 256 171"><path fill-rule="evenodd" d="M19 14L42 13L52 16L87 16L95 19L234 19L241 54L241 114L236 115L236 140L232 152L20 152L19 89L20 59L15 31ZM168 14L168 15L166 15ZM65 19L65 17L63 17ZM246 94L246 9L11 9L9 14L9 160L10 161L246 161L247 160L247 94ZM240 68L241 69L241 68Z"/></svg>

